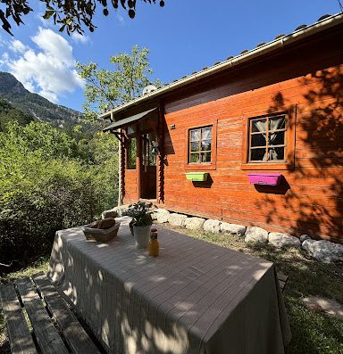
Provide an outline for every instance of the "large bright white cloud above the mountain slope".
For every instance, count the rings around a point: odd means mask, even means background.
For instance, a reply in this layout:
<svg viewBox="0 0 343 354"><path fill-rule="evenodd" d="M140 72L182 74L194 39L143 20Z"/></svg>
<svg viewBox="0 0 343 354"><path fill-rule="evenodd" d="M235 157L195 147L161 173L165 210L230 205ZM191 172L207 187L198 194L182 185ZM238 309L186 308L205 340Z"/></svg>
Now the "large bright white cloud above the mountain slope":
<svg viewBox="0 0 343 354"><path fill-rule="evenodd" d="M3 54L0 60L29 91L56 103L59 96L84 86L66 39L52 29L39 28L31 40L37 50L13 40L9 45L13 55Z"/></svg>

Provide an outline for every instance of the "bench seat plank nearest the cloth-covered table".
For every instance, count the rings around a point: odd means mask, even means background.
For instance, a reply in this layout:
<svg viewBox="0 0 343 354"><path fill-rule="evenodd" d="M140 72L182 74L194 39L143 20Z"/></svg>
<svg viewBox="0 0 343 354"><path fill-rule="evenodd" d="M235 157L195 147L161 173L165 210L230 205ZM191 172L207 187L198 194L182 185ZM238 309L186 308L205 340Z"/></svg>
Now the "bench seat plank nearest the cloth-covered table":
<svg viewBox="0 0 343 354"><path fill-rule="evenodd" d="M43 272L39 272L32 276L32 279L61 329L65 341L71 347L71 351L79 354L100 354L94 342L89 338L86 331L79 324L78 319L55 290L54 285L49 282L46 275Z"/></svg>

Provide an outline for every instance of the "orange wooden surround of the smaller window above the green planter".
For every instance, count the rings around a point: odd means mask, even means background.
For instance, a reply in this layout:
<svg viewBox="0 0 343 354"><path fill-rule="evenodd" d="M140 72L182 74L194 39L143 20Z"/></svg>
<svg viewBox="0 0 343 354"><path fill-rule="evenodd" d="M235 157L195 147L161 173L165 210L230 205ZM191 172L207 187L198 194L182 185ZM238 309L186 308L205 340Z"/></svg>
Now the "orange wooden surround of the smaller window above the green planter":
<svg viewBox="0 0 343 354"><path fill-rule="evenodd" d="M211 132L211 162L188 162L190 155L190 130L212 128ZM185 148L185 169L186 170L206 170L216 169L217 160L217 120L200 122L197 126L186 128L186 148Z"/></svg>

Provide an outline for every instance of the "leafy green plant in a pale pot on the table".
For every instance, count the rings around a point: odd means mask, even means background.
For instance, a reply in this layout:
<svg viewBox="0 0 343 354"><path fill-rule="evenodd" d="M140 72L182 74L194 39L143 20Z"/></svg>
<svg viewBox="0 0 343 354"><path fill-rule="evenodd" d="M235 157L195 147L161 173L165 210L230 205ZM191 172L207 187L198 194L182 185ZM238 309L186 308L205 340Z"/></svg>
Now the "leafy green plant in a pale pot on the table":
<svg viewBox="0 0 343 354"><path fill-rule="evenodd" d="M149 243L150 228L153 224L151 218L153 203L137 202L129 206L126 215L132 218L133 235L137 248L146 248Z"/></svg>

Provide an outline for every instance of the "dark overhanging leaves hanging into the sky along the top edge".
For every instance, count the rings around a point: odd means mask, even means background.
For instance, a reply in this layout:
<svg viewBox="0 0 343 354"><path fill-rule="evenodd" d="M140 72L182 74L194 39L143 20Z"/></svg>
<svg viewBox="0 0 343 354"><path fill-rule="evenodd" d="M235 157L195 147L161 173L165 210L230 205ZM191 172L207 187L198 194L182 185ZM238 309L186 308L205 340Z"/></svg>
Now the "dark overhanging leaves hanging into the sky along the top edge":
<svg viewBox="0 0 343 354"><path fill-rule="evenodd" d="M102 8L105 16L110 12L110 6L107 0L41 0L46 4L46 12L43 16L45 20L54 19L54 24L61 26L60 31L65 29L68 34L75 30L80 34L83 33L83 27L88 28L91 32L96 29L93 23L93 16L96 13L96 6ZM155 0L143 0L145 3L155 3ZM32 0L31 0L32 2ZM29 6L29 0L0 0L0 4L4 4L4 11L0 9L0 21L3 29L11 33L11 23L13 20L18 26L23 23L22 15L32 12ZM160 6L164 6L164 1L159 1ZM130 18L136 15L136 0L112 0L112 7L116 10L119 5L125 9Z"/></svg>

